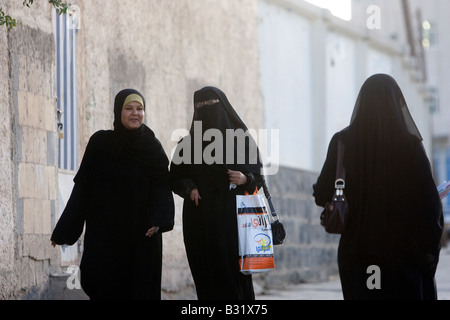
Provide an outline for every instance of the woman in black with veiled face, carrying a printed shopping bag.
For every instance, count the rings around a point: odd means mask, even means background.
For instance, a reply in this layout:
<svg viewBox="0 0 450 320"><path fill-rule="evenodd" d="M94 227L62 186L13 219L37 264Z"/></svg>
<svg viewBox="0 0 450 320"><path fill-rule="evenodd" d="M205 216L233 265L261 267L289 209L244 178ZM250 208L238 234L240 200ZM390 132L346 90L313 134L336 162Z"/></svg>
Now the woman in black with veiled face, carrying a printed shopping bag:
<svg viewBox="0 0 450 320"><path fill-rule="evenodd" d="M261 187L259 154L251 138L245 146L226 139L227 129L248 129L221 90L205 87L195 92L194 106L190 135L179 143L170 173L172 190L184 198L184 243L197 297L252 300L252 277L239 271L236 195L252 194ZM196 124L202 130L196 130ZM223 145L211 154L217 141L204 139L208 129L223 137ZM227 143L231 148L226 148ZM230 151L234 151L234 157ZM202 155L212 155L215 161L211 163ZM244 155L245 161L239 161ZM230 183L236 187L230 187Z"/></svg>

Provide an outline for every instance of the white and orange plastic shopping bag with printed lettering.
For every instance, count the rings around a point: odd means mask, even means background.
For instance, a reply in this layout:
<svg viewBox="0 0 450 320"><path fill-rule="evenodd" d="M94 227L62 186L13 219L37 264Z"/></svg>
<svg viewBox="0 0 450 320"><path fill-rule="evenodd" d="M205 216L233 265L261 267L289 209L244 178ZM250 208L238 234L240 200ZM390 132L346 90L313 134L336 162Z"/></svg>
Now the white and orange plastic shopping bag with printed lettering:
<svg viewBox="0 0 450 320"><path fill-rule="evenodd" d="M273 237L263 195L237 195L239 266L244 274L275 268Z"/></svg>

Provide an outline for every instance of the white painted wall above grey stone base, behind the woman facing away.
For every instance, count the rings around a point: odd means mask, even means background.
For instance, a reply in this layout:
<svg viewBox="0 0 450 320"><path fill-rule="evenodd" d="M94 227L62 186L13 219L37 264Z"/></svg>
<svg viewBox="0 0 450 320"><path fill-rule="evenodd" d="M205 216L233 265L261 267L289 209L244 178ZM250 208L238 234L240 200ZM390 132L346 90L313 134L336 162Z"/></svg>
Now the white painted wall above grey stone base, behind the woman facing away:
<svg viewBox="0 0 450 320"><path fill-rule="evenodd" d="M357 12L365 14L362 2ZM401 12L399 3L393 8ZM401 15L391 25L383 19L383 30L369 30L361 14L343 21L304 1L259 1L258 11L265 125L280 130L280 165L319 172L331 137L348 126L361 86L376 73L399 83L431 156L424 84L404 57Z"/></svg>

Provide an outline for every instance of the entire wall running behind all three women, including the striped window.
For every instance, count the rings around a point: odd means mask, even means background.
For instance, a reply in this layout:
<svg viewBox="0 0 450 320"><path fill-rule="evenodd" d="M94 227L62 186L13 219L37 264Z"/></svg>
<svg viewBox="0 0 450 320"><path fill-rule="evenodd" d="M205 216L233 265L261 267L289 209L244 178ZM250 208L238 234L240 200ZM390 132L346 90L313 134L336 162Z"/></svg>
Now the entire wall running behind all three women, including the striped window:
<svg viewBox="0 0 450 320"><path fill-rule="evenodd" d="M190 127L194 91L206 85L221 88L249 128L276 133L268 182L288 235L275 247L277 269L255 276L262 289L337 274L339 238L320 227L312 184L369 75L398 80L431 154L429 95L400 0L354 0L351 21L302 0L72 3L59 16L47 1L29 9L0 0L21 20L0 28L0 298L82 298L66 281L82 238L57 248L49 238L89 137L112 128L122 88L144 94L145 122L169 155ZM175 200L163 297L195 298Z"/></svg>

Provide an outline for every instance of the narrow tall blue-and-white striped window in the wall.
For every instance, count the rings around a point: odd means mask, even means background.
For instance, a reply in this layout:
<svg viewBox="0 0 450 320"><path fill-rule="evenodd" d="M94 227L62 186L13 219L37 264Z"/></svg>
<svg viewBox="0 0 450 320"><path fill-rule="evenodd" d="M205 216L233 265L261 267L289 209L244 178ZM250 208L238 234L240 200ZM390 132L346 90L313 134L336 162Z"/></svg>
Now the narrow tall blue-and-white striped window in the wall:
<svg viewBox="0 0 450 320"><path fill-rule="evenodd" d="M55 15L56 95L58 98L59 168L76 171L78 166L77 34L79 8Z"/></svg>

